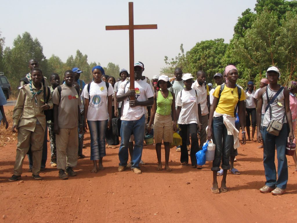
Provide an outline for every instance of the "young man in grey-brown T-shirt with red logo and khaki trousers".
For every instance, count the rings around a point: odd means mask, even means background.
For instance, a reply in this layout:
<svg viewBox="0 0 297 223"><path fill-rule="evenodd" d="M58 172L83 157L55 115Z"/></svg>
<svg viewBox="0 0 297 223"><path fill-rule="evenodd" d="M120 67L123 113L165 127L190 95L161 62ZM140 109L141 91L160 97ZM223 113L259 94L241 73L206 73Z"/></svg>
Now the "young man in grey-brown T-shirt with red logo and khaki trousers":
<svg viewBox="0 0 297 223"><path fill-rule="evenodd" d="M64 73L65 83L53 92L54 133L56 134L57 168L59 178L76 176L73 167L77 164L78 123L79 133L83 131L80 117L81 100L79 92L73 87L75 76L72 70Z"/></svg>

